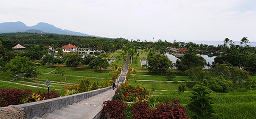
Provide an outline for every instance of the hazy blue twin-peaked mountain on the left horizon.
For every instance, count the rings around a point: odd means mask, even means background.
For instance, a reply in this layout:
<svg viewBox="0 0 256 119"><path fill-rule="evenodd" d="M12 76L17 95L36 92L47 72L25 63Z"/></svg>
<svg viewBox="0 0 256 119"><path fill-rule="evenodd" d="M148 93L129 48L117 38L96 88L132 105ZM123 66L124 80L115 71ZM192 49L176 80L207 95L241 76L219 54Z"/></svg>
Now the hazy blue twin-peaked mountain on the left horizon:
<svg viewBox="0 0 256 119"><path fill-rule="evenodd" d="M81 32L75 32L67 29L61 29L59 27L55 27L52 24L39 22L33 26L26 26L23 22L3 22L0 23L0 33L8 33L8 32L37 32L40 33L56 33L56 34L68 34L68 35L79 35L79 36L95 36L89 35ZM99 37L99 36L96 36Z"/></svg>

